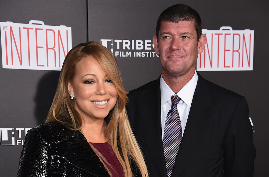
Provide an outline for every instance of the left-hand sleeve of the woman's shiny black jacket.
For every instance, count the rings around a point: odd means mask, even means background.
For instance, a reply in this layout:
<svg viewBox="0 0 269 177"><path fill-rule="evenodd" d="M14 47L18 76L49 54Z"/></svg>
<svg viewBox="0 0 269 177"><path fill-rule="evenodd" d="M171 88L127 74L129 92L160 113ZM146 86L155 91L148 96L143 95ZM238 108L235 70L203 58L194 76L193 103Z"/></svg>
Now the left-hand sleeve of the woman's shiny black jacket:
<svg viewBox="0 0 269 177"><path fill-rule="evenodd" d="M17 177L49 176L47 146L38 130L28 131L20 155Z"/></svg>

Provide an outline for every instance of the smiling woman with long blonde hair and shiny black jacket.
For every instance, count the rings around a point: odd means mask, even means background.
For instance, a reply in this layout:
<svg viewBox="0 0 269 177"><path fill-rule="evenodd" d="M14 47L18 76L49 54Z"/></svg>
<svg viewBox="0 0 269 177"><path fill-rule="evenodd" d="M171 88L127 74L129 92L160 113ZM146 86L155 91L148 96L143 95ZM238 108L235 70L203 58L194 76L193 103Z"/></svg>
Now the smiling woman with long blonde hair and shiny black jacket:
<svg viewBox="0 0 269 177"><path fill-rule="evenodd" d="M46 123L27 133L17 176L148 177L126 94L107 48L87 42L71 49Z"/></svg>

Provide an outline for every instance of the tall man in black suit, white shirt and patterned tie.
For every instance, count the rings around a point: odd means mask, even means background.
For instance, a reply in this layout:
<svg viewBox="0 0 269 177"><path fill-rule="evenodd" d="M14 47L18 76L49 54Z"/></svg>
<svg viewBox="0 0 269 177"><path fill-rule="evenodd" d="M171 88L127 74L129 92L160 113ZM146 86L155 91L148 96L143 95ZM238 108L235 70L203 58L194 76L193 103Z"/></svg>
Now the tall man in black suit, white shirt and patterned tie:
<svg viewBox="0 0 269 177"><path fill-rule="evenodd" d="M247 102L196 72L205 42L194 9L178 4L161 13L153 36L161 76L132 90L127 104L152 177L253 176Z"/></svg>

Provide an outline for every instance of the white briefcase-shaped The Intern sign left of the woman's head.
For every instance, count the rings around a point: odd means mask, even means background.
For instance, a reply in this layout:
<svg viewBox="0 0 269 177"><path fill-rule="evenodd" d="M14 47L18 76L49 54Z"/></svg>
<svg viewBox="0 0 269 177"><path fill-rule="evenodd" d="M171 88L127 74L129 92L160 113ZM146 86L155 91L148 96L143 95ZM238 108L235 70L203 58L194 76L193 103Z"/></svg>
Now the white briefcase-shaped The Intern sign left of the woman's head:
<svg viewBox="0 0 269 177"><path fill-rule="evenodd" d="M9 69L61 70L72 49L71 27L0 22L2 65Z"/></svg>

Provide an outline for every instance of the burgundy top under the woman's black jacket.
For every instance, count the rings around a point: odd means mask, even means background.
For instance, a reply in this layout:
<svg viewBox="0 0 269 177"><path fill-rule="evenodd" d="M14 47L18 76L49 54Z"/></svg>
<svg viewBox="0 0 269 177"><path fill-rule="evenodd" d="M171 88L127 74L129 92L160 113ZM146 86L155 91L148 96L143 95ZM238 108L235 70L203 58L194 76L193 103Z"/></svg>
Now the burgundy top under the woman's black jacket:
<svg viewBox="0 0 269 177"><path fill-rule="evenodd" d="M109 168L109 171L112 174L112 177L124 177L123 175L123 168L120 164L120 161L116 157L116 154L112 150L111 145L108 142L105 143L90 143L93 145L105 159L108 161L108 163L114 168L112 169L111 166L109 166L107 163L106 166Z"/></svg>

